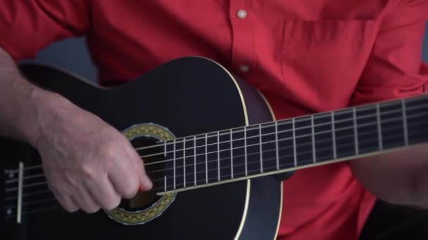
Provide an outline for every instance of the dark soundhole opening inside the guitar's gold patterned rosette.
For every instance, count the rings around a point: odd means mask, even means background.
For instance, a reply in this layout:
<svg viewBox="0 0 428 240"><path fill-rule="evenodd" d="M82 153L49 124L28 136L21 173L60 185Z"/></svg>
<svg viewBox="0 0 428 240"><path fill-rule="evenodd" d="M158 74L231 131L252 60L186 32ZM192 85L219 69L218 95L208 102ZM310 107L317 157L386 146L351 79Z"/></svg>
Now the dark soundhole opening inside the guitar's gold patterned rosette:
<svg viewBox="0 0 428 240"><path fill-rule="evenodd" d="M165 164L153 164L158 161L163 161L163 146L156 143L158 139L152 137L138 137L134 138L131 143L137 153L141 156L144 161L146 173L153 182L153 189L156 189L156 180L162 179L162 171L160 168L165 168ZM138 192L132 199L122 199L120 208L126 211L142 211L149 208L160 199L160 196L156 195L155 191L149 192Z"/></svg>

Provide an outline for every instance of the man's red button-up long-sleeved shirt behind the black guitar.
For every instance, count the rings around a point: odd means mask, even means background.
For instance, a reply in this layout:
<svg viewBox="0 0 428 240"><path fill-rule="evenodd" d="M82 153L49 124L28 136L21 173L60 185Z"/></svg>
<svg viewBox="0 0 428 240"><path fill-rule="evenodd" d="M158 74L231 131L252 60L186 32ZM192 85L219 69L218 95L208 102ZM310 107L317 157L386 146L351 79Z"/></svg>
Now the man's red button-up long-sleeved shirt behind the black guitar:
<svg viewBox="0 0 428 240"><path fill-rule="evenodd" d="M422 0L1 1L0 44L20 60L87 34L102 84L203 55L283 119L423 93L427 16ZM298 171L279 239L357 239L374 201L347 163Z"/></svg>

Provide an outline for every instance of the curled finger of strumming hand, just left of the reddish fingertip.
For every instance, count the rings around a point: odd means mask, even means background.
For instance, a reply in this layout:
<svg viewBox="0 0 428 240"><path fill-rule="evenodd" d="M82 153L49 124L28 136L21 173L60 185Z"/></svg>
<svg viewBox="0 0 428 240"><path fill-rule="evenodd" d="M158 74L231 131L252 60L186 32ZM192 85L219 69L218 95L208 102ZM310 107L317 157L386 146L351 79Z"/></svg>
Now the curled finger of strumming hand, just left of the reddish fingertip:
<svg viewBox="0 0 428 240"><path fill-rule="evenodd" d="M116 164L115 168L108 173L108 180L113 185L115 192L126 199L137 194L139 178L131 164Z"/></svg>

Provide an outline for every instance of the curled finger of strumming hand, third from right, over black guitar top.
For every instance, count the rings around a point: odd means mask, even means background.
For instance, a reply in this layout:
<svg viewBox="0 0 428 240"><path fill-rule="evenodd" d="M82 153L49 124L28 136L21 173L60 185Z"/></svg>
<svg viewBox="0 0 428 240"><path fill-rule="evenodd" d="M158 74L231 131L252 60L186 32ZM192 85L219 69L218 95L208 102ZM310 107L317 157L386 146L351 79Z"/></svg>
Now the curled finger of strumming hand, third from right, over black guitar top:
<svg viewBox="0 0 428 240"><path fill-rule="evenodd" d="M120 204L120 195L115 191L107 176L98 181L85 182L89 194L96 204L106 210L112 210Z"/></svg>

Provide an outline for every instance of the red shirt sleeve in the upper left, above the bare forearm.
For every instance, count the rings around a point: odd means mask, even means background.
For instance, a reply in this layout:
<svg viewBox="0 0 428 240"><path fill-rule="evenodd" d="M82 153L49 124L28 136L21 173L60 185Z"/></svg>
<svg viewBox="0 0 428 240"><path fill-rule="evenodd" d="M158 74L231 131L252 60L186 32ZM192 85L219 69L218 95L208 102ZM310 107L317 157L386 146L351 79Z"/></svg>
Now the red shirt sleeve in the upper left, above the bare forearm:
<svg viewBox="0 0 428 240"><path fill-rule="evenodd" d="M89 13L89 0L0 1L0 46L15 61L34 58L53 41L85 34Z"/></svg>

